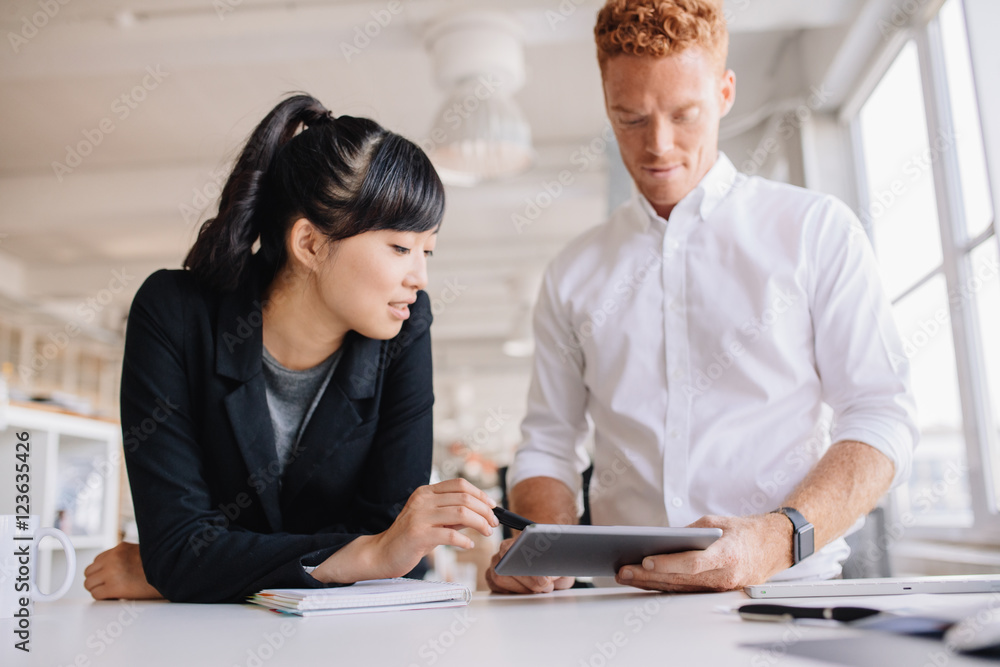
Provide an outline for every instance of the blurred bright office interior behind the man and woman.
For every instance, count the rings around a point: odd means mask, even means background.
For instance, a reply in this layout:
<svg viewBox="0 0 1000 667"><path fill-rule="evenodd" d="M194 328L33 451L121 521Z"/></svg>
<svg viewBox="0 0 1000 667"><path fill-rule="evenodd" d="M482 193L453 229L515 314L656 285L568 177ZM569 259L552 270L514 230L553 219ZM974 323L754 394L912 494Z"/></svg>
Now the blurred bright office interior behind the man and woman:
<svg viewBox="0 0 1000 667"><path fill-rule="evenodd" d="M0 447L19 425L45 434L35 502L81 569L130 530L114 420L132 296L180 267L241 142L292 91L441 168L435 467L497 493L545 266L631 192L595 58L601 4L0 5ZM858 213L906 343L922 441L859 550L893 574L1000 571L1000 46L966 20L990 5L724 3L737 102L722 150Z"/></svg>

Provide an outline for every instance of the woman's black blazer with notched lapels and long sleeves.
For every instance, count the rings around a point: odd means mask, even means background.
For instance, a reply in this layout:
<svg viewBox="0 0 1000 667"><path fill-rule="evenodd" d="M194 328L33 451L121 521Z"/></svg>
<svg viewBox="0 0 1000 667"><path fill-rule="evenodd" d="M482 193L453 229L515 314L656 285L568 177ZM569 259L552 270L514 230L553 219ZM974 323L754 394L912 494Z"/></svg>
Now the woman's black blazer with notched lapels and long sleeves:
<svg viewBox="0 0 1000 667"><path fill-rule="evenodd" d="M431 466L431 313L391 341L348 333L279 479L256 290L158 271L132 303L121 415L140 554L164 597L241 600L324 586L303 570L385 530Z"/></svg>

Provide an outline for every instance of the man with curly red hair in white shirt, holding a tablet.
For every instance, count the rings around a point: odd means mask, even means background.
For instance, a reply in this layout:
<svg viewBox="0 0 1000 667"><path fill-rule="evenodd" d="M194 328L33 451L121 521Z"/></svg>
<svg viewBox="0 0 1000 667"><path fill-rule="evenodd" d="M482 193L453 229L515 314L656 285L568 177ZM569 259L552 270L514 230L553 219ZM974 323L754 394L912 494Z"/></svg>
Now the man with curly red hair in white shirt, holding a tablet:
<svg viewBox="0 0 1000 667"><path fill-rule="evenodd" d="M589 417L593 523L722 529L705 551L618 572L640 588L838 576L842 536L907 478L917 439L909 364L857 218L719 153L735 99L720 4L610 0L598 15L635 195L546 272L508 479L515 512L575 523ZM573 583L487 579L515 593Z"/></svg>

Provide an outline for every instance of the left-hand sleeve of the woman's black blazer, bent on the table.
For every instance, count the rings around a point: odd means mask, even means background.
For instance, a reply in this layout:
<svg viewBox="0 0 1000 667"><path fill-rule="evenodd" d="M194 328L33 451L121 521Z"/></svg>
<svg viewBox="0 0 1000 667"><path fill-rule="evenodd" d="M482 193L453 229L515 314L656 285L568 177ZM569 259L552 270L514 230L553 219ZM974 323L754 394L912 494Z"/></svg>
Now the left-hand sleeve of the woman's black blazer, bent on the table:
<svg viewBox="0 0 1000 667"><path fill-rule="evenodd" d="M213 507L185 373L185 298L173 273L153 274L136 295L122 368L125 461L146 578L177 602L325 587L302 566L318 565L357 535L256 533Z"/></svg>

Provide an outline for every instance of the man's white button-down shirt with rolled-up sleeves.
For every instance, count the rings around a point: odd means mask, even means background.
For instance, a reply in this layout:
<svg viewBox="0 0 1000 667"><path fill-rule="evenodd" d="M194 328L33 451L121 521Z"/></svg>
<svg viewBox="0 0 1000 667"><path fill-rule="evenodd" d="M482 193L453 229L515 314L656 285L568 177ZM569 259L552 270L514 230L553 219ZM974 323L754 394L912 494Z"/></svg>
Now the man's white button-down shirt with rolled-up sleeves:
<svg viewBox="0 0 1000 667"><path fill-rule="evenodd" d="M508 483L579 490L589 416L595 524L768 512L831 440L909 476L909 364L868 239L833 197L720 154L669 220L636 194L561 252L534 328ZM837 540L775 579L834 576L848 553Z"/></svg>

